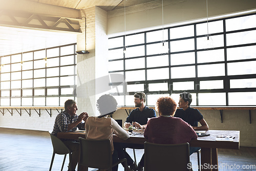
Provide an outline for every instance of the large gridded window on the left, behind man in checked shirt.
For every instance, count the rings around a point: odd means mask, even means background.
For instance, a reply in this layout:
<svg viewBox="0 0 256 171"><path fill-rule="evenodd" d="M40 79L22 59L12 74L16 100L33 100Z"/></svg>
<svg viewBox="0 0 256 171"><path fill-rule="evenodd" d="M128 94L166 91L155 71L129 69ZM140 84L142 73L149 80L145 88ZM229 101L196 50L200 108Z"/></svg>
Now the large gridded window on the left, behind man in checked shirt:
<svg viewBox="0 0 256 171"><path fill-rule="evenodd" d="M76 44L1 57L2 106L59 106L76 98Z"/></svg>

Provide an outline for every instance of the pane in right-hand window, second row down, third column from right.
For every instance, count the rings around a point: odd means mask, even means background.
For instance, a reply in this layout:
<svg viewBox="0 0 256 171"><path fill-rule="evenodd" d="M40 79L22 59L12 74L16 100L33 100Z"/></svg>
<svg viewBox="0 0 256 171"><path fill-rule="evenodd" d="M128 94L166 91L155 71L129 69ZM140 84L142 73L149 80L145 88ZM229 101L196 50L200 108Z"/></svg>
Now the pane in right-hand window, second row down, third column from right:
<svg viewBox="0 0 256 171"><path fill-rule="evenodd" d="M195 49L195 39L170 41L170 52L189 51Z"/></svg>

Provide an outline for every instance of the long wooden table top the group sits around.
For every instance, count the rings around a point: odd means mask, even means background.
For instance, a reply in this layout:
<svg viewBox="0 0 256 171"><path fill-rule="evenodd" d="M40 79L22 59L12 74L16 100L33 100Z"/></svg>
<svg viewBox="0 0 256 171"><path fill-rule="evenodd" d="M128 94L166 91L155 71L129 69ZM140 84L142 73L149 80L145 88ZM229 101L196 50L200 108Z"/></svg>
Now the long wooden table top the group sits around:
<svg viewBox="0 0 256 171"><path fill-rule="evenodd" d="M143 131L134 131L141 133L139 135L130 135L127 140L120 139L114 135L115 142L125 142L125 143L137 143L143 144L146 139L144 138ZM227 149L239 149L240 147L240 131L224 131L224 130L209 130L205 133L210 134L210 136L198 137L196 140L191 140L189 142L190 146L205 147L205 148L227 148ZM235 137L233 141L216 141L217 136L232 136ZM79 137L86 138L86 133L81 132L69 132L69 133L58 133L58 138L63 139L78 139Z"/></svg>

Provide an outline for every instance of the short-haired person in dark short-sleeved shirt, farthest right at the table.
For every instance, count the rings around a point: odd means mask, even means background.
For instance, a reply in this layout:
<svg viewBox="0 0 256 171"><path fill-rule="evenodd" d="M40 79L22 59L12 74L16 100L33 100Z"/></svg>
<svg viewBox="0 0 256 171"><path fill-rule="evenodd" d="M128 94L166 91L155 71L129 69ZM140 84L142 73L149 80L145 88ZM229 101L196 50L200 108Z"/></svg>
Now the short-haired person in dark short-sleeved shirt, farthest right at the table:
<svg viewBox="0 0 256 171"><path fill-rule="evenodd" d="M203 118L203 115L194 108L190 108L192 102L192 96L188 92L183 92L180 94L179 108L177 109L174 117L183 119L189 125L193 127L194 130L209 130L209 126ZM201 126L198 126L200 122ZM189 147L190 155L198 151L200 147Z"/></svg>

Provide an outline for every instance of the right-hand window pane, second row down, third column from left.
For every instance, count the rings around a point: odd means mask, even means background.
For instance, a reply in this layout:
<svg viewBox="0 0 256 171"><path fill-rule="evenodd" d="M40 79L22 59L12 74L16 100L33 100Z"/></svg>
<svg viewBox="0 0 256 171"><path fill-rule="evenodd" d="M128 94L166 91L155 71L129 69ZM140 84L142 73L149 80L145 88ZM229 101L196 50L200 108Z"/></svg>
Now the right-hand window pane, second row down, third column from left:
<svg viewBox="0 0 256 171"><path fill-rule="evenodd" d="M164 46L162 42L146 46L146 55L164 54L168 52L168 42L164 42Z"/></svg>

